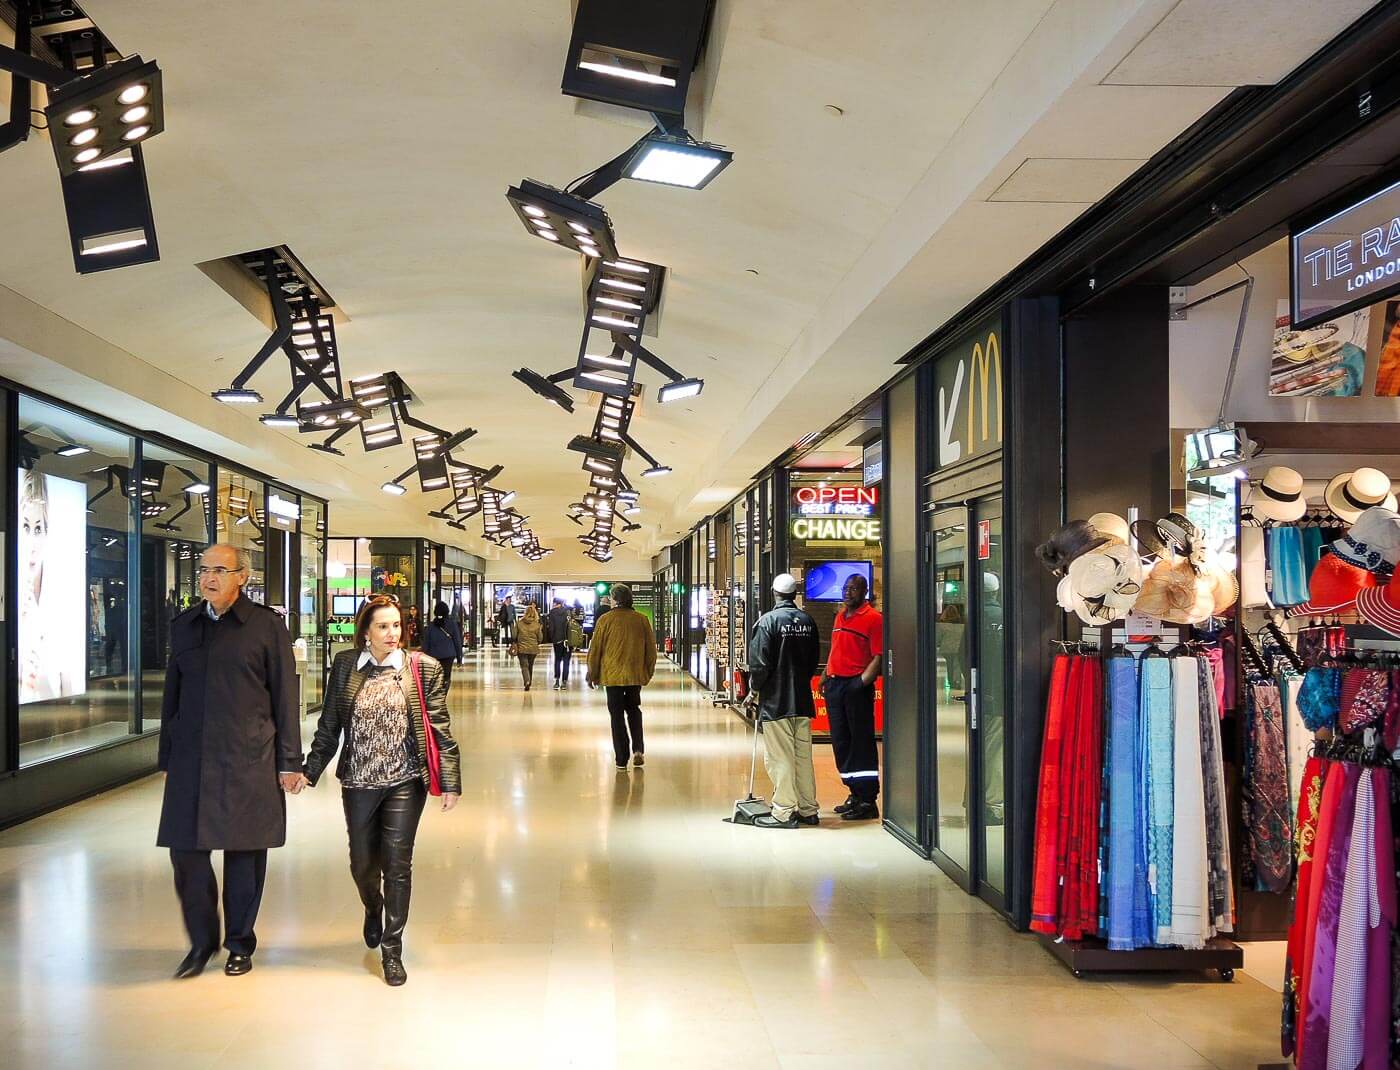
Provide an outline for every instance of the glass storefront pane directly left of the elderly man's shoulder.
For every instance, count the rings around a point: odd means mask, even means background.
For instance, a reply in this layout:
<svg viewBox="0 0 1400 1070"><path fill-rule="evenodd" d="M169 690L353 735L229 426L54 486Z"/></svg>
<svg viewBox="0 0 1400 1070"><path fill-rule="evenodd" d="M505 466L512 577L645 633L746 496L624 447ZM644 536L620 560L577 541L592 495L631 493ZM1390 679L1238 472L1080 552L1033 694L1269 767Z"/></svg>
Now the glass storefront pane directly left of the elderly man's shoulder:
<svg viewBox="0 0 1400 1070"><path fill-rule="evenodd" d="M210 466L144 443L141 450L141 721L160 728L171 620L199 601L209 545Z"/></svg>

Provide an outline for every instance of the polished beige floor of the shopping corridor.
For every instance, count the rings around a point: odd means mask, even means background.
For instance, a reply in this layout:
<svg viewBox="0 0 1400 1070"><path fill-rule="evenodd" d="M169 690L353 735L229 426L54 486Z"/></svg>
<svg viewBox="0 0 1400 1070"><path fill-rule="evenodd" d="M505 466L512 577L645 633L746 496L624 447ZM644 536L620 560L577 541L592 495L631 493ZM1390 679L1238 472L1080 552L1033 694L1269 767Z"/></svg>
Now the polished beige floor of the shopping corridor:
<svg viewBox="0 0 1400 1070"><path fill-rule="evenodd" d="M745 730L673 667L645 696L645 770L617 774L578 672L553 692L540 658L525 695L504 655L458 669L466 794L424 815L403 989L360 944L333 780L290 800L245 978L167 979L185 937L158 779L0 833L0 1066L1274 1060L1278 996L1254 978L1075 980L878 825L724 824ZM826 748L819 787L843 797Z"/></svg>

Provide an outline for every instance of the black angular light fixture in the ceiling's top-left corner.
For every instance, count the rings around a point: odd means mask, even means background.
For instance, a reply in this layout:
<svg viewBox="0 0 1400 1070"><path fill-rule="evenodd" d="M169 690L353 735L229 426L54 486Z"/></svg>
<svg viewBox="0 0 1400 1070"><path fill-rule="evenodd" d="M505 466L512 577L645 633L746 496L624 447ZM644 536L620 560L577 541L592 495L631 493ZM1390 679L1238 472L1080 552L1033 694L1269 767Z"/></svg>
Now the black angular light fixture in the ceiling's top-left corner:
<svg viewBox="0 0 1400 1070"><path fill-rule="evenodd" d="M164 129L161 73L140 56L122 57L76 3L15 0L14 48L0 46L10 71L10 118L0 151L27 140L32 83L50 87L45 115L63 188L63 206L80 275L160 259L141 143ZM34 55L55 55L50 63Z"/></svg>

